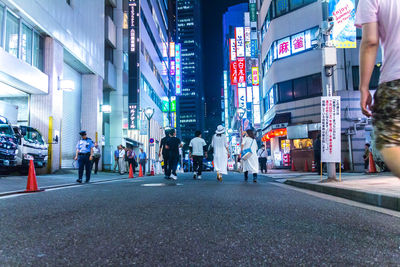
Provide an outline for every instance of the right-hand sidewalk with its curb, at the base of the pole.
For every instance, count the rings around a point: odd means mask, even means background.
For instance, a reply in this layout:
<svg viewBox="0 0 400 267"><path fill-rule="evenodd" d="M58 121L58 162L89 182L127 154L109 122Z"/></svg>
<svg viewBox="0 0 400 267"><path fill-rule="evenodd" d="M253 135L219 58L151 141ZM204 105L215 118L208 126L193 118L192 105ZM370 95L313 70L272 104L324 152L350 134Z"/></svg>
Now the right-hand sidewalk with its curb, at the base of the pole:
<svg viewBox="0 0 400 267"><path fill-rule="evenodd" d="M292 175L284 180L273 174L270 177L288 185L400 211L400 179L391 173L343 173L341 182L326 182L326 177L321 182L317 174Z"/></svg>

